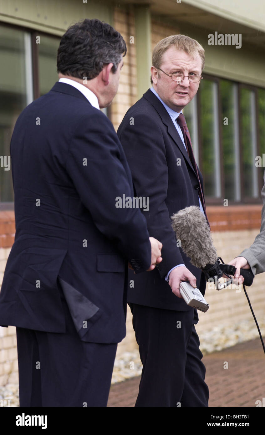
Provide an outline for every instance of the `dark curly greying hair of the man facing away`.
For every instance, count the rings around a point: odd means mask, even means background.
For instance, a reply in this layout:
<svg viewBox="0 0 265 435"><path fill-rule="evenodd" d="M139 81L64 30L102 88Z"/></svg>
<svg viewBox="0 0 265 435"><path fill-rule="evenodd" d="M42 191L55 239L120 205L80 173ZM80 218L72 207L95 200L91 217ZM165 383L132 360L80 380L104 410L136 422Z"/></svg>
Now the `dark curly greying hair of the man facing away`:
<svg viewBox="0 0 265 435"><path fill-rule="evenodd" d="M126 43L110 24L100 20L82 20L69 27L60 40L57 52L57 73L91 80L104 65L113 64L117 71Z"/></svg>

